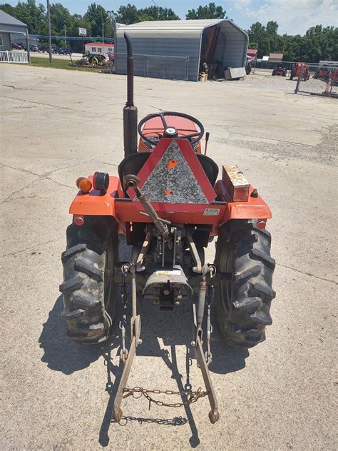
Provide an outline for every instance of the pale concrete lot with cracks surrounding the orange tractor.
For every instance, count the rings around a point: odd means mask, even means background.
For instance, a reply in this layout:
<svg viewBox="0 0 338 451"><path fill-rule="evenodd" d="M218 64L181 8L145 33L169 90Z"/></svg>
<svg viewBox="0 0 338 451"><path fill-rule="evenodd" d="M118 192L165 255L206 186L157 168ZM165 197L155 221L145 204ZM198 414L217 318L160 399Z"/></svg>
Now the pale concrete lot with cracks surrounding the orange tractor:
<svg viewBox="0 0 338 451"><path fill-rule="evenodd" d="M210 156L237 164L270 205L277 297L267 341L250 352L222 345L215 327L216 425L207 400L149 411L131 397L118 425L118 328L102 348L72 343L58 285L76 178L116 174L123 157L126 78L1 65L1 450L337 449L337 105L293 89L278 77L136 78L139 118L161 109L196 116L210 131ZM130 386L178 390L189 375L203 387L195 359L187 365L188 306L159 313L144 304L141 314Z"/></svg>

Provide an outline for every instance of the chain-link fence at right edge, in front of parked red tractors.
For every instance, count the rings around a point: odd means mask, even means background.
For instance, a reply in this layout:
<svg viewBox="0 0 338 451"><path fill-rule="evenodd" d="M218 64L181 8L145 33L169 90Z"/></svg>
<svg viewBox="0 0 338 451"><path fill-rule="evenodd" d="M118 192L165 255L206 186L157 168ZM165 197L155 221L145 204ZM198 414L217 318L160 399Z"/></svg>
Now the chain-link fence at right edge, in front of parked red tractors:
<svg viewBox="0 0 338 451"><path fill-rule="evenodd" d="M291 77L297 80L296 94L338 97L338 65L295 64Z"/></svg>

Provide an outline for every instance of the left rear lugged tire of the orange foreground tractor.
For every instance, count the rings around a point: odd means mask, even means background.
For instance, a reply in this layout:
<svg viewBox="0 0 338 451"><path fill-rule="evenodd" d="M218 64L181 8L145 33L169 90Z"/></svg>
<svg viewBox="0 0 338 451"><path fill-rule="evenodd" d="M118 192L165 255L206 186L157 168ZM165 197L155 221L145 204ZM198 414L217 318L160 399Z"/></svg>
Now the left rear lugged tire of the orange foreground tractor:
<svg viewBox="0 0 338 451"><path fill-rule="evenodd" d="M118 232L113 218L86 216L83 226L67 228L62 253L64 310L67 335L77 343L94 345L107 340L116 313Z"/></svg>

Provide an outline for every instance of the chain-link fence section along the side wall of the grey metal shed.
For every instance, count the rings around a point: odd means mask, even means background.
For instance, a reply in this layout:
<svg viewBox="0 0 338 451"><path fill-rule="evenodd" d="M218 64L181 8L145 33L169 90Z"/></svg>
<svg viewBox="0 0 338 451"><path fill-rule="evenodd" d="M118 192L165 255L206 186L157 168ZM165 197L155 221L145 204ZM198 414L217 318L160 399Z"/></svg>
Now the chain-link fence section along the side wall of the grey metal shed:
<svg viewBox="0 0 338 451"><path fill-rule="evenodd" d="M134 54L134 73L137 76L188 80L189 56ZM126 54L115 54L116 72L126 73Z"/></svg>

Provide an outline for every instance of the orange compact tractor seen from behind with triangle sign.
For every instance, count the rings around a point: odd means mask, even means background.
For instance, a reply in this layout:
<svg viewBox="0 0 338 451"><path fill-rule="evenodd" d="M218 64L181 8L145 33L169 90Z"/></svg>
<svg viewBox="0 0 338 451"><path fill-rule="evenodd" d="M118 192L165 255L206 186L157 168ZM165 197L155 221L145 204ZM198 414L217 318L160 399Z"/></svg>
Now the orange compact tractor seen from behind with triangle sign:
<svg viewBox="0 0 338 451"><path fill-rule="evenodd" d="M160 390L127 387L136 348L142 343L140 296L163 310L163 315L184 303L191 305L194 332L190 345L195 348L206 390L175 393L184 406L208 397L210 422L215 423L219 412L208 369L212 362L211 310L215 306L220 331L230 345L250 348L265 340L275 298L275 260L265 228L271 212L237 166L223 166L217 181L218 166L206 155L209 133L203 152L204 128L198 119L167 111L150 114L138 123L133 51L130 37L126 33L124 37L125 157L118 176L96 172L76 181L79 191L70 207L73 223L68 226L67 248L61 256L61 315L73 340L94 345L109 338L116 305L121 302L118 319L124 366L112 412L113 419L120 421L121 403L129 395L137 393L150 403L167 405L150 397L150 392ZM119 259L119 233L132 246L130 261ZM215 237L215 260L205 263L204 249Z"/></svg>

